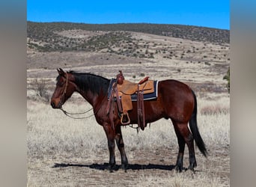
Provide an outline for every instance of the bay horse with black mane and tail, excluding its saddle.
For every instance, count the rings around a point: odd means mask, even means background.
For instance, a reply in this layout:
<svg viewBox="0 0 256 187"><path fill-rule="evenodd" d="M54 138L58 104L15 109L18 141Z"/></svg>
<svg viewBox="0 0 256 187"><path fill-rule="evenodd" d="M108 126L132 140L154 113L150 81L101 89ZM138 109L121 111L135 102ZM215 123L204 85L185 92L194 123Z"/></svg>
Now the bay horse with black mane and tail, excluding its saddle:
<svg viewBox="0 0 256 187"><path fill-rule="evenodd" d="M115 168L116 142L121 153L121 168L126 171L128 159L124 150L121 132L122 124L120 117L118 117L118 107L115 106L113 114L114 129L106 112L110 79L91 73L64 72L61 68L57 70L56 88L50 102L52 108L61 109L64 102L74 92L80 93L92 105L97 123L103 126L106 132L109 147L109 170L113 171ZM162 117L171 119L179 145L175 170L181 172L184 169L183 154L186 144L189 148L188 169L194 171L194 168L197 166L194 140L201 153L207 157L207 149L198 131L197 99L195 93L188 85L173 79L159 81L158 85L158 97L153 100L144 101L145 121L146 123L151 123ZM137 124L136 102L132 102L132 108L132 111L129 111L130 123Z"/></svg>

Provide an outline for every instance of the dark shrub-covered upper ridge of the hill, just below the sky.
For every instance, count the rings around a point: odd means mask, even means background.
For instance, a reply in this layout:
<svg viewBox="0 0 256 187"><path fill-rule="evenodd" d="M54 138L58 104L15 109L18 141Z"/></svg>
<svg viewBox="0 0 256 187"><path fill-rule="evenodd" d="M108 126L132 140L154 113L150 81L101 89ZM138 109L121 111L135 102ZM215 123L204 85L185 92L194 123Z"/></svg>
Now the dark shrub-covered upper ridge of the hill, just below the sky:
<svg viewBox="0 0 256 187"><path fill-rule="evenodd" d="M87 38L67 37L58 33L64 31L94 31L98 33ZM117 32L123 31L123 32ZM70 22L28 22L28 46L40 51L73 51L102 49L110 43L130 42L130 34L127 31L159 36L177 37L193 41L204 41L222 45L229 43L229 31L215 28L195 27L188 25L164 25L164 24L84 24ZM99 34L100 32L106 34ZM117 34L118 33L118 34ZM85 40L86 39L86 40Z"/></svg>

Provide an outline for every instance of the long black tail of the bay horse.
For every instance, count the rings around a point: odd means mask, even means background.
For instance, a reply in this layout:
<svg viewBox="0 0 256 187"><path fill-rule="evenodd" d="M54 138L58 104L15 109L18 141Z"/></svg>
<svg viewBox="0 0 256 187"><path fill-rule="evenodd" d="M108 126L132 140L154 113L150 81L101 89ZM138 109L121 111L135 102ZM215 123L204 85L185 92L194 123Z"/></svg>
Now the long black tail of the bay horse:
<svg viewBox="0 0 256 187"><path fill-rule="evenodd" d="M192 116L189 120L189 127L191 129L191 132L192 132L192 135L195 139L195 143L197 144L199 150L201 151L201 153L207 157L207 150L205 148L205 144L204 144L204 141L203 139L201 138L201 135L198 131L198 122L197 122L197 119L196 119L196 115L198 113L198 104L197 104L197 101L196 101L196 96L195 96L195 93L194 91L192 91L193 93L193 96L194 96L194 100L195 100L195 106L194 106L194 110L193 110L193 113L192 113Z"/></svg>

